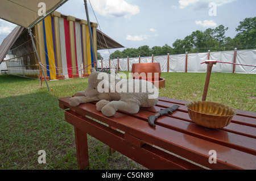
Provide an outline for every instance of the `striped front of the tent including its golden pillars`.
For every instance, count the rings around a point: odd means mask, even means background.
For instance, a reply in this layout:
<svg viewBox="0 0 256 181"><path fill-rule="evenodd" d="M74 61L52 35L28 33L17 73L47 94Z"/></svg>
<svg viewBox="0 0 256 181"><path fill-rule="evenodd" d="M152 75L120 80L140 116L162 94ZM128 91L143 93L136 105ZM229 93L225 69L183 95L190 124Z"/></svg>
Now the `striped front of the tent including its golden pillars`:
<svg viewBox="0 0 256 181"><path fill-rule="evenodd" d="M97 24L92 23L93 41L97 46L96 28ZM93 57L86 20L55 11L35 29L35 36L43 37L39 38L37 49L49 79L76 78L90 73L97 57Z"/></svg>

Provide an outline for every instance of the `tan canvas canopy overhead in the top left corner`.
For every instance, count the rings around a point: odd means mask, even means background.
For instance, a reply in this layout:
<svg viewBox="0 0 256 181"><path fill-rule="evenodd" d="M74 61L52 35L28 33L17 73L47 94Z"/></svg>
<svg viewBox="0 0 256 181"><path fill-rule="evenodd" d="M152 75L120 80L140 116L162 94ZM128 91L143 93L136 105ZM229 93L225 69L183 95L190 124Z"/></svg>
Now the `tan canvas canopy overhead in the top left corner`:
<svg viewBox="0 0 256 181"><path fill-rule="evenodd" d="M65 2L67 0L0 0L0 18L31 28Z"/></svg>

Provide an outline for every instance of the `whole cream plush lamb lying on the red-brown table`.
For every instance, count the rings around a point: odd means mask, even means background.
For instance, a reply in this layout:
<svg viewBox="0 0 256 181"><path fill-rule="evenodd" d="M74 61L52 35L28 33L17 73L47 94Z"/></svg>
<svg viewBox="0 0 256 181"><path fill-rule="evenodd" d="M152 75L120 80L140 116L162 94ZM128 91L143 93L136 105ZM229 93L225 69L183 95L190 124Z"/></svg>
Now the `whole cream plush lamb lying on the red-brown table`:
<svg viewBox="0 0 256 181"><path fill-rule="evenodd" d="M113 116L117 110L137 113L139 107L151 107L158 102L158 89L143 79L121 79L113 74L90 69L88 87L69 99L71 106L98 101L97 110Z"/></svg>

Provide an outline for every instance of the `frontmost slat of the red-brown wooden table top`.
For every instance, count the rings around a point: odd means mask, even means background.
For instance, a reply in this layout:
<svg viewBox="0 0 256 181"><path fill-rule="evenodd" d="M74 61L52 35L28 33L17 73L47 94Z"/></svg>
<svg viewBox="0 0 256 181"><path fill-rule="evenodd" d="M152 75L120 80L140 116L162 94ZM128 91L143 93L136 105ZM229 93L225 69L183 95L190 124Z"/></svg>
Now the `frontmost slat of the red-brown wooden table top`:
<svg viewBox="0 0 256 181"><path fill-rule="evenodd" d="M60 99L61 104L68 107L68 99ZM96 106L90 103L81 104L79 107L72 109L75 109L81 115L92 116L135 137L139 137L144 141L160 146L163 149L212 169L255 169L255 165L251 163L251 161L255 160L255 156L236 149L227 148L223 145L218 145L159 125L153 129L148 126L146 121L119 112L109 118L98 112ZM203 147L199 145L203 145ZM210 164L208 162L208 151L211 149L216 150L217 153L221 153L218 154L217 164ZM234 159L235 157L236 159Z"/></svg>

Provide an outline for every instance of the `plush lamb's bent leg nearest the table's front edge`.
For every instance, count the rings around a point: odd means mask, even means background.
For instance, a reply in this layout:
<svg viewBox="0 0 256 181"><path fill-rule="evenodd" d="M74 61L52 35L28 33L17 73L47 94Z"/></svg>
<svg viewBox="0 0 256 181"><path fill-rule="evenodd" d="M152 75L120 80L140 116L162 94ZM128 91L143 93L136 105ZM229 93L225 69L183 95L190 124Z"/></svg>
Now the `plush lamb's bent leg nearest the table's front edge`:
<svg viewBox="0 0 256 181"><path fill-rule="evenodd" d="M113 116L117 110L129 112L129 113L138 113L139 105L133 102L123 102L122 100L112 101L101 109L101 112L105 116Z"/></svg>

